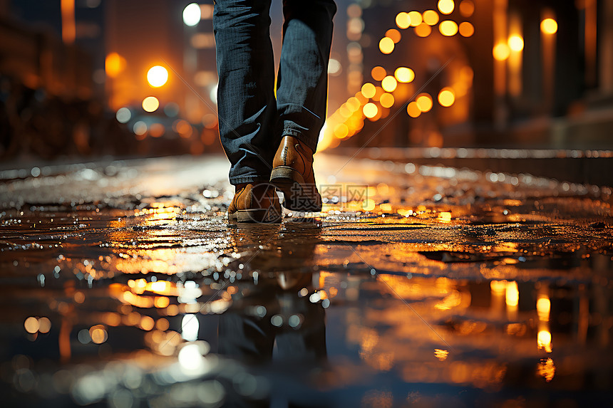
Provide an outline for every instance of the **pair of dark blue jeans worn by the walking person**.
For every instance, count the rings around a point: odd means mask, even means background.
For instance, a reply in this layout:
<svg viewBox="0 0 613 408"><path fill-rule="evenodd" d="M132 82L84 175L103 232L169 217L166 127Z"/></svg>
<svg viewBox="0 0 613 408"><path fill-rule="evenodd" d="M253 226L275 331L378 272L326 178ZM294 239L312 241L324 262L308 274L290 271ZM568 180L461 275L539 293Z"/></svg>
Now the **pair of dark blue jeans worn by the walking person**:
<svg viewBox="0 0 613 408"><path fill-rule="evenodd" d="M274 94L271 0L217 0L217 110L230 183L268 182L284 135L316 150L326 118L333 0L284 0L283 46Z"/></svg>

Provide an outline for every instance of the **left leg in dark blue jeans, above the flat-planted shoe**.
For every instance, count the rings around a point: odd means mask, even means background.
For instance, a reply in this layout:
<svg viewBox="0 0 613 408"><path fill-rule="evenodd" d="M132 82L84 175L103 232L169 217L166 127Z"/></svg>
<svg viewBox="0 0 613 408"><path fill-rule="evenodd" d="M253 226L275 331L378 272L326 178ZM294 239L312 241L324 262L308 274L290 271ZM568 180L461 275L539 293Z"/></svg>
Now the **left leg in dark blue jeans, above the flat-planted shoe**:
<svg viewBox="0 0 613 408"><path fill-rule="evenodd" d="M277 148L270 1L215 1L220 138L235 185L268 182Z"/></svg>

